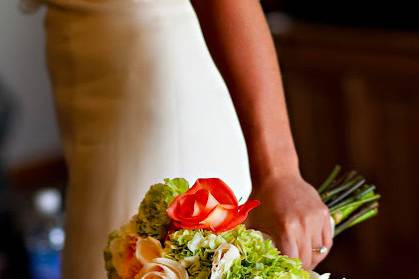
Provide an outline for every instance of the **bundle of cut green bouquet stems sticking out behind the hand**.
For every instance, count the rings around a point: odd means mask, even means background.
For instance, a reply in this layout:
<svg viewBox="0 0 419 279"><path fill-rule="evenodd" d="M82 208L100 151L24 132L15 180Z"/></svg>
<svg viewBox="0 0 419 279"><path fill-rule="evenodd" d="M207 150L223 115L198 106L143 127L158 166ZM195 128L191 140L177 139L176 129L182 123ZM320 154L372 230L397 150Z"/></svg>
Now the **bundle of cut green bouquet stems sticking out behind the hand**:
<svg viewBox="0 0 419 279"><path fill-rule="evenodd" d="M341 174L335 166L318 192L335 221L335 236L378 213L380 195L356 171Z"/></svg>

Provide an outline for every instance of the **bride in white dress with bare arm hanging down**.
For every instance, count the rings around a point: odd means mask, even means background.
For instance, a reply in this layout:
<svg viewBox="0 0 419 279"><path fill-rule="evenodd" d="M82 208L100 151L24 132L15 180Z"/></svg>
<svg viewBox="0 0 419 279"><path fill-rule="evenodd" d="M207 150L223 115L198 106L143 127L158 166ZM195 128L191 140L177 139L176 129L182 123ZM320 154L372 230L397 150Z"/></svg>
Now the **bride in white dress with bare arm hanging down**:
<svg viewBox="0 0 419 279"><path fill-rule="evenodd" d="M262 201L249 225L283 253L307 269L325 257L328 210L300 175L258 0L44 3L70 172L64 278L105 278L107 233L166 177L222 178Z"/></svg>

